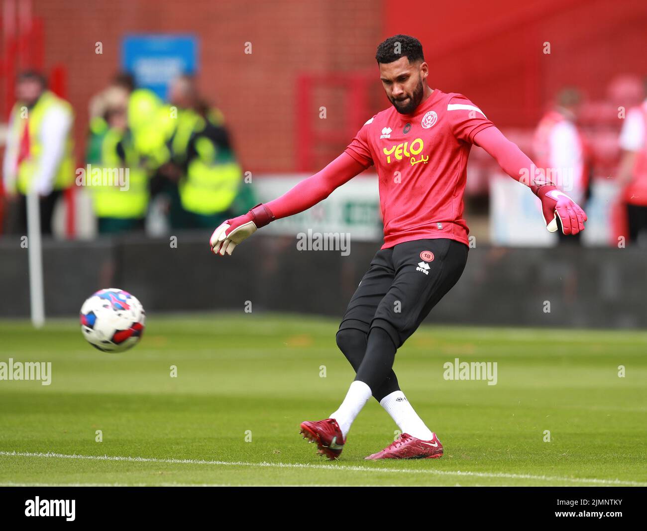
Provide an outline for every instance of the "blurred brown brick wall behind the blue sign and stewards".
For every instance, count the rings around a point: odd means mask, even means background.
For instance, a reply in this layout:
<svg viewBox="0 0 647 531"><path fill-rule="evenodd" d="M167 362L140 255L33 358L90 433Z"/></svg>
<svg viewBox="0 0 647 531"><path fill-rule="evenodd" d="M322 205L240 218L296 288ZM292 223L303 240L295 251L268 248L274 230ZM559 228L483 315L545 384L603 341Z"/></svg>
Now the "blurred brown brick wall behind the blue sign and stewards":
<svg viewBox="0 0 647 531"><path fill-rule="evenodd" d="M193 33L199 85L230 124L245 170L295 168L295 79L300 72L374 67L380 0L34 0L45 21L45 67L68 69L82 155L87 104L118 69L124 35ZM103 54L95 54L101 41ZM244 53L245 42L252 54ZM342 102L321 102L329 116ZM313 109L318 113L319 105Z"/></svg>

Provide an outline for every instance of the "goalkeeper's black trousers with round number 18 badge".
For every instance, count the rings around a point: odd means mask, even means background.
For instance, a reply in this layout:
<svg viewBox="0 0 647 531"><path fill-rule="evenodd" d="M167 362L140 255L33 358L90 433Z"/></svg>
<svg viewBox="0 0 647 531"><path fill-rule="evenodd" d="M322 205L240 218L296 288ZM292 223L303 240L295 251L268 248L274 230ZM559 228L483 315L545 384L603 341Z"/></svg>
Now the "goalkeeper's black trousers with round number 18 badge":
<svg viewBox="0 0 647 531"><path fill-rule="evenodd" d="M399 390L392 369L395 351L454 287L465 269L468 250L466 244L451 239L423 239L379 250L373 257L336 340L358 377L371 382L378 402ZM375 328L380 330L371 336L371 349L377 350L367 354L369 334ZM383 344L376 345L376 337ZM389 338L393 345L384 343ZM365 356L369 367L362 364Z"/></svg>

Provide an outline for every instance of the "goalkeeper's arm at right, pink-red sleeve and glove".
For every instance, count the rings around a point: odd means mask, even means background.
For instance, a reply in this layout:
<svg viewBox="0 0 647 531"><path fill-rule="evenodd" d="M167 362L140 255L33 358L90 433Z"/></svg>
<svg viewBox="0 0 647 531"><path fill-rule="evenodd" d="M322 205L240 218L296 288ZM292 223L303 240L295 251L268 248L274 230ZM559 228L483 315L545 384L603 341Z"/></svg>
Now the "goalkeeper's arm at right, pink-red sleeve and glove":
<svg viewBox="0 0 647 531"><path fill-rule="evenodd" d="M543 220L549 232L558 229L558 216L564 234L584 230L586 212L552 182L545 180L542 175L536 175L536 167L530 158L514 142L505 138L499 129L490 126L479 131L474 135L474 144L483 147L512 179L531 188L532 193L542 201Z"/></svg>

